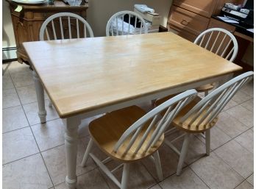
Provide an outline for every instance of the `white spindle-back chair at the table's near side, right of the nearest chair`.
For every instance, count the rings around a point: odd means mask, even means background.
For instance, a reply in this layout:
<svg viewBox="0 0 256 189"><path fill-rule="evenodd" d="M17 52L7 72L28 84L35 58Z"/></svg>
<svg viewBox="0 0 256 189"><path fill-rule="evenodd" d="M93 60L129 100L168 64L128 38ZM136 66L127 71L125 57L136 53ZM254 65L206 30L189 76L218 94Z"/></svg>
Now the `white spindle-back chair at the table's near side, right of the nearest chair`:
<svg viewBox="0 0 256 189"><path fill-rule="evenodd" d="M185 134L180 135L178 138L182 138L184 141L181 151L179 151L173 142L177 140L165 140L165 143L179 154L179 163L177 167L177 175L181 174L182 165L185 160L185 155L188 151L189 138L191 134L202 134L205 132L205 144L206 154L210 154L210 129L216 124L218 114L225 105L232 99L235 93L248 83L253 77L253 71L246 72L231 79L229 82L224 83L216 90L213 90L210 94L201 99L197 96L191 103L183 108L179 114L174 118L171 124L174 126L166 132L171 133L174 129L179 129Z"/></svg>

